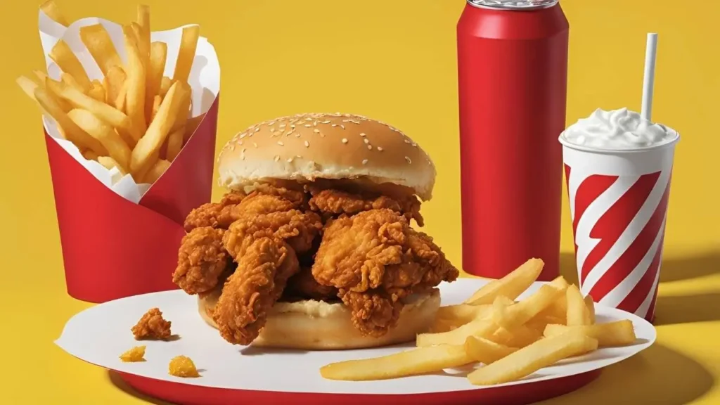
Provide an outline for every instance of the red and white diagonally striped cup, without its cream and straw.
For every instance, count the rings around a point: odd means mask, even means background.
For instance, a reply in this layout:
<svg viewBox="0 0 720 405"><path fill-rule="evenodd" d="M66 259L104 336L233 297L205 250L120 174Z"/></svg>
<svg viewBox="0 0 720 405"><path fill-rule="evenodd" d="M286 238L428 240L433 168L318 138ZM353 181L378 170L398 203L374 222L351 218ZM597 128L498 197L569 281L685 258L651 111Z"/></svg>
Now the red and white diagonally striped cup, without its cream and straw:
<svg viewBox="0 0 720 405"><path fill-rule="evenodd" d="M583 295L654 319L675 143L631 150L560 137Z"/></svg>

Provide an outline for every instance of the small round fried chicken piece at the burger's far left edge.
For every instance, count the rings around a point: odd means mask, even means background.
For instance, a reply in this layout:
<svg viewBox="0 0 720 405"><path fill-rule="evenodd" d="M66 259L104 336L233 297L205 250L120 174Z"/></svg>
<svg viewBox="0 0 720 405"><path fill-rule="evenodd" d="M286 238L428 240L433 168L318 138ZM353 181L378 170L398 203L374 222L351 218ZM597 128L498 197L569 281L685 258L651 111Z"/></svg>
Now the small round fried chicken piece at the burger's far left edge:
<svg viewBox="0 0 720 405"><path fill-rule="evenodd" d="M173 282L188 294L204 293L217 285L230 265L230 255L222 244L222 229L209 226L187 233L178 250L178 265Z"/></svg>

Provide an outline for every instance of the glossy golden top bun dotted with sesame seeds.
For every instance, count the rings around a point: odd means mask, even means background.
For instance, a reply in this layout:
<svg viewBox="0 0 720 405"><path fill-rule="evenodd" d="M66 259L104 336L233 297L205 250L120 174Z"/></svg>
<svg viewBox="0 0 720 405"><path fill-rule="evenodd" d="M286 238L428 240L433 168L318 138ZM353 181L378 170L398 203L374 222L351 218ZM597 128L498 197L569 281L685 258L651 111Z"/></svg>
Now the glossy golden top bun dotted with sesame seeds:
<svg viewBox="0 0 720 405"><path fill-rule="evenodd" d="M400 130L351 114L299 114L251 126L217 158L220 184L233 190L258 182L351 179L394 184L430 200L435 165Z"/></svg>

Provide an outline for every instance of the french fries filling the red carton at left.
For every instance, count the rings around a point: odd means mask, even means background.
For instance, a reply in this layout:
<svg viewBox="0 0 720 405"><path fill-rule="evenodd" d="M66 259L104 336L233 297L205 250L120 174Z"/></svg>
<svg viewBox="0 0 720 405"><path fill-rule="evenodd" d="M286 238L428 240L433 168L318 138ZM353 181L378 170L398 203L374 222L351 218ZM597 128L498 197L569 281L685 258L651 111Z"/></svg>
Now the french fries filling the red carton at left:
<svg viewBox="0 0 720 405"><path fill-rule="evenodd" d="M61 25L68 20L53 0L40 6ZM100 25L81 27L80 37L104 78L91 80L68 44L50 51L62 74L51 79L42 71L21 76L17 84L53 117L60 135L78 147L85 159L130 174L135 182L153 183L178 156L202 115L189 118L188 84L199 27L185 27L172 78L163 76L167 44L150 42L150 9L138 6L135 22L122 27L127 61L123 63Z"/></svg>

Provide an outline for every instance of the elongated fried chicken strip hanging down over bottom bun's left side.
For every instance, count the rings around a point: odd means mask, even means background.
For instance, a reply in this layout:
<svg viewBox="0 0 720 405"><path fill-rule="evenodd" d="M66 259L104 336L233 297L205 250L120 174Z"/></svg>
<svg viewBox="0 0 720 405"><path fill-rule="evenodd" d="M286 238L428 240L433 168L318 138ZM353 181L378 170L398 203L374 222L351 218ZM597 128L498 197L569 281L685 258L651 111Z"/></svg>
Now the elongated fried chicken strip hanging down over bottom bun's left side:
<svg viewBox="0 0 720 405"><path fill-rule="evenodd" d="M284 241L261 237L238 257L238 268L222 287L213 319L233 344L251 344L265 326L267 312L287 279L299 270L297 256Z"/></svg>

